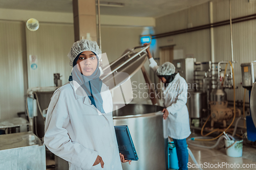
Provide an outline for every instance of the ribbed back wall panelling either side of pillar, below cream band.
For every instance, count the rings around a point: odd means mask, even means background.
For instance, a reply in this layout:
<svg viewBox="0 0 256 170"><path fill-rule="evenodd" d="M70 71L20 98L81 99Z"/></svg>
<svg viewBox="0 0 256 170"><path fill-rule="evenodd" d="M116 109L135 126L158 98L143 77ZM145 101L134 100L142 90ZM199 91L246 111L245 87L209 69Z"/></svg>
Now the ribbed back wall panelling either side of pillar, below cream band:
<svg viewBox="0 0 256 170"><path fill-rule="evenodd" d="M40 22L40 28L35 32L25 29L24 21L1 20L0 26L0 69L4 75L0 118L7 119L25 111L27 88L54 86L54 73L60 73L62 85L68 82L72 67L67 54L74 42L74 30L72 23ZM102 52L108 55L110 62L114 61L127 48L139 45L142 31L143 27L102 26ZM36 61L31 61L30 56L35 56ZM34 63L36 69L31 68ZM132 77L132 82L135 85L145 83L141 70ZM137 95L139 91L135 90ZM147 90L140 89L140 92ZM141 101L136 98L133 102Z"/></svg>

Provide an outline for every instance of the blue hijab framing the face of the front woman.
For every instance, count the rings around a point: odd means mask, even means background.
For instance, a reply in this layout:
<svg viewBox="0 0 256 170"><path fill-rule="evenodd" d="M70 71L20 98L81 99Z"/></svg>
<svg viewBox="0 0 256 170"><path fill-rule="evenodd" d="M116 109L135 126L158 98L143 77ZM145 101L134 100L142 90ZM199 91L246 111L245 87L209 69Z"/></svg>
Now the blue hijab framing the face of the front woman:
<svg viewBox="0 0 256 170"><path fill-rule="evenodd" d="M81 52L82 53L82 52ZM75 60L73 61L73 70L71 76L69 77L69 81L76 81L83 89L86 91L89 99L91 100L91 105L94 105L101 113L105 113L103 109L103 100L101 98L101 87L102 80L100 77L100 69L99 69L99 58L95 54L98 64L97 69L93 72L91 76L84 76L77 67L75 67L77 60L79 59L79 53Z"/></svg>

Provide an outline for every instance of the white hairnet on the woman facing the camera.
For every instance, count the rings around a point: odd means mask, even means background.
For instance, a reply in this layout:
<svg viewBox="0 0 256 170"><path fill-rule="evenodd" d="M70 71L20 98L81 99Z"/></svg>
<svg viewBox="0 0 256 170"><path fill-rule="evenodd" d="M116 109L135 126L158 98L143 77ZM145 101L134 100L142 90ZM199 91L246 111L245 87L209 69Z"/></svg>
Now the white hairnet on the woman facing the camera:
<svg viewBox="0 0 256 170"><path fill-rule="evenodd" d="M73 66L73 61L75 60L76 56L84 51L92 51L97 56L101 54L101 50L97 44L96 41L91 41L87 39L81 39L79 41L76 41L73 43L73 46L71 47L71 51L68 54L68 57L70 59L70 65ZM99 57L99 56L98 56ZM99 57L100 59L100 57Z"/></svg>

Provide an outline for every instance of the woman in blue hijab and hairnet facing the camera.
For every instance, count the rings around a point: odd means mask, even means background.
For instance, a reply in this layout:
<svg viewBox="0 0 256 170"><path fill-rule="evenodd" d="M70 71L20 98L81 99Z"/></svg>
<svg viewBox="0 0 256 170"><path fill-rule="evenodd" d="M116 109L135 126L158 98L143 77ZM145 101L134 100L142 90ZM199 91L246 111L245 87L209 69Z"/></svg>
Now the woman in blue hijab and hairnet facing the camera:
<svg viewBox="0 0 256 170"><path fill-rule="evenodd" d="M48 107L45 145L67 160L70 170L120 170L127 161L118 151L110 90L99 79L100 54L95 41L73 44L68 54L72 76L54 92Z"/></svg>

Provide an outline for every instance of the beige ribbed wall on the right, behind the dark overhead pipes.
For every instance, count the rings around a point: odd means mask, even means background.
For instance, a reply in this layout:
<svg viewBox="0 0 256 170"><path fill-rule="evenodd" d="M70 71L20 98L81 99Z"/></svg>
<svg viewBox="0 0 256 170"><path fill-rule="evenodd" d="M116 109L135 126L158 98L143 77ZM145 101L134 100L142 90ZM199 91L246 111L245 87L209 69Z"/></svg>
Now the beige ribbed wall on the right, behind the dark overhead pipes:
<svg viewBox="0 0 256 170"><path fill-rule="evenodd" d="M229 19L229 1L212 1L214 22ZM254 14L256 3L247 0L232 0L232 18ZM156 18L156 34L187 29L191 26L197 27L209 23L209 3L179 11L177 13ZM243 100L244 88L241 85L241 63L255 60L256 56L256 20L233 23L233 55L234 80L236 81L236 100ZM214 30L214 52L215 62L231 60L230 27L229 25L213 28ZM169 37L157 38L158 47L166 45L174 46L174 59L195 57L197 61L211 60L210 30L200 30ZM159 55L158 52L156 53ZM222 68L225 68L225 65ZM224 69L223 68L223 69ZM233 90L226 89L228 100L233 101ZM248 92L246 95L248 100Z"/></svg>

